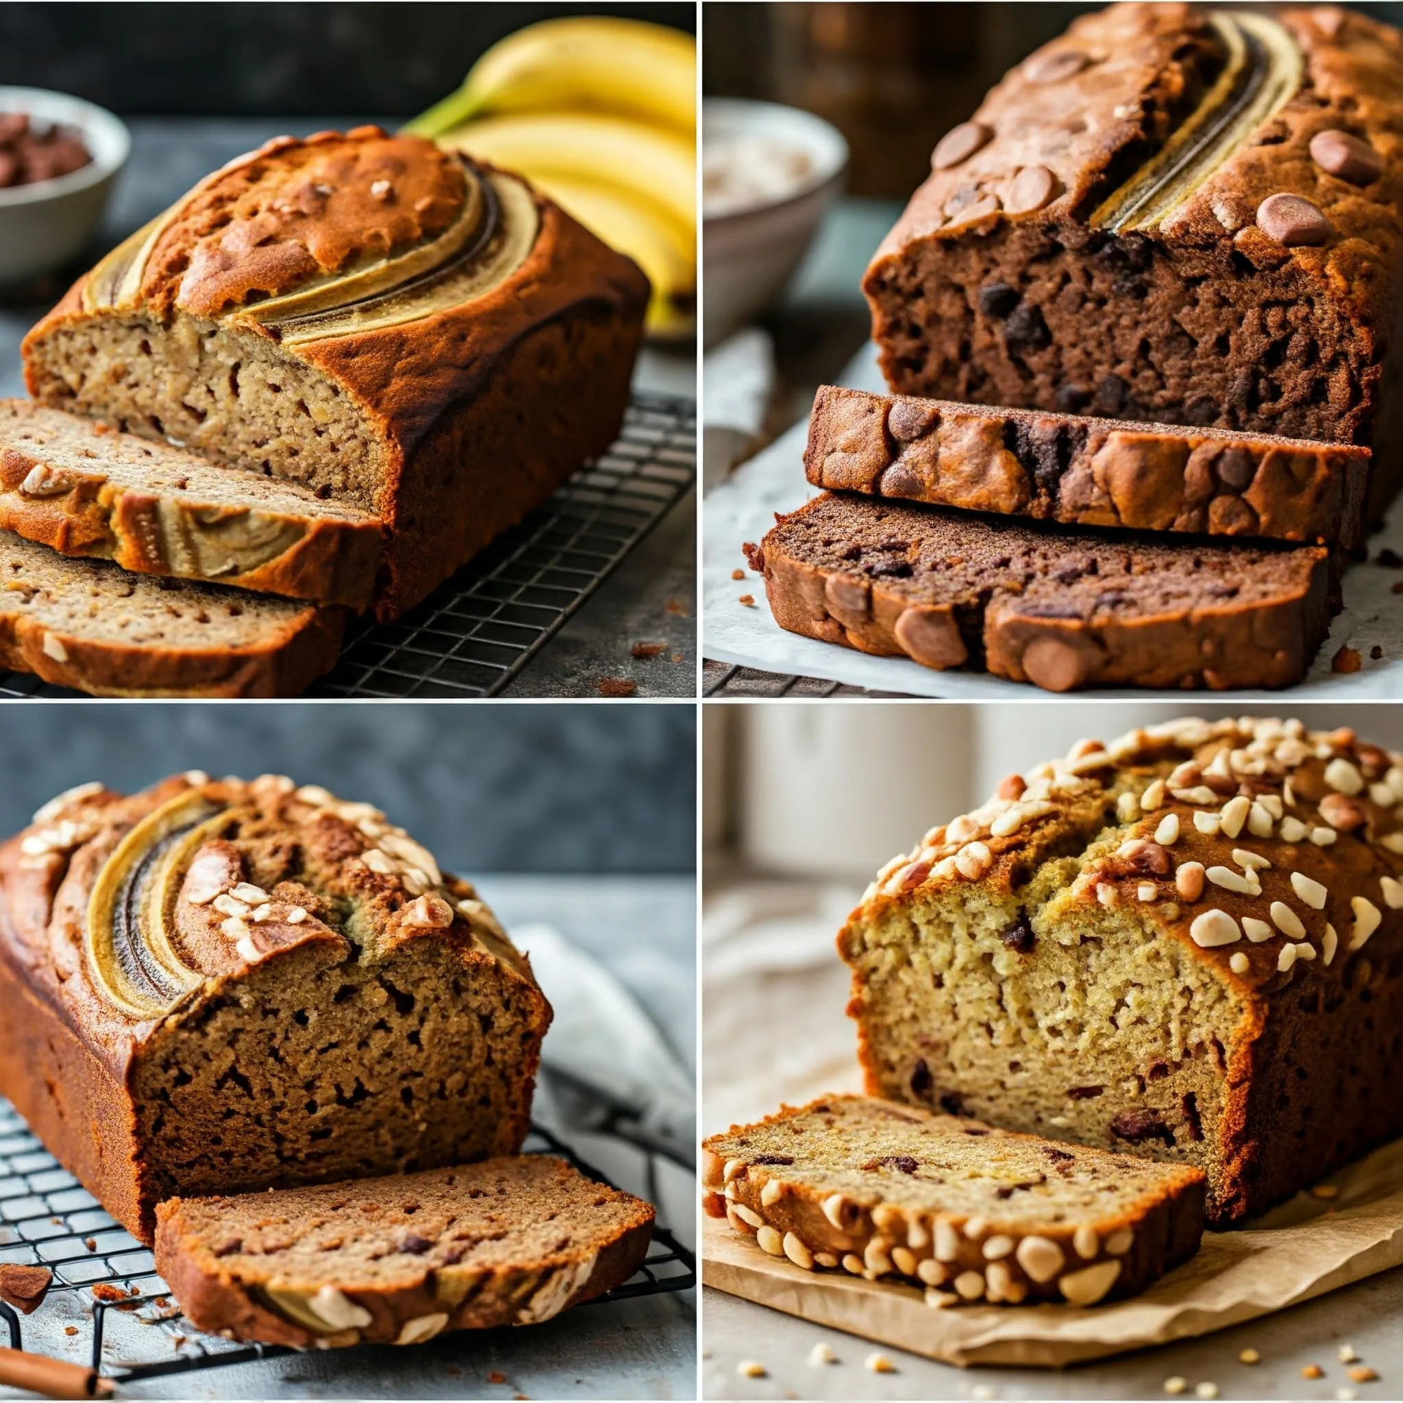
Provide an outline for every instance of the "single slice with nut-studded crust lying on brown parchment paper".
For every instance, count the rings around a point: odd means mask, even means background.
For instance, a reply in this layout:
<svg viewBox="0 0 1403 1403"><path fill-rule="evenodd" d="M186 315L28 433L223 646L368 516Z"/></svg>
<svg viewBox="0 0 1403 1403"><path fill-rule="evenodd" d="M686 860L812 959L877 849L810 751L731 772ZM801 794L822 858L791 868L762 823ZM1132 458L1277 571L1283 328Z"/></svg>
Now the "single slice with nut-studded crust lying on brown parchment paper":
<svg viewBox="0 0 1403 1403"><path fill-rule="evenodd" d="M960 1301L1089 1306L1195 1251L1204 1174L861 1096L703 1143L706 1211L774 1257Z"/></svg>

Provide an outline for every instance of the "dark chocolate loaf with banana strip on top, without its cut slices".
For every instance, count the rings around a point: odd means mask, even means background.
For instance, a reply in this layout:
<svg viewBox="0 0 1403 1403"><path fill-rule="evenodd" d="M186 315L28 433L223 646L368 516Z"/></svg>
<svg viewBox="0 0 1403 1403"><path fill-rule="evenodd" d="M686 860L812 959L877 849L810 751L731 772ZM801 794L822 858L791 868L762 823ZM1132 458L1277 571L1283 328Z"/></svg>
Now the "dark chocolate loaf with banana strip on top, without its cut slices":
<svg viewBox="0 0 1403 1403"><path fill-rule="evenodd" d="M1403 470L1403 39L1120 4L936 146L864 288L891 389L1371 446Z"/></svg>

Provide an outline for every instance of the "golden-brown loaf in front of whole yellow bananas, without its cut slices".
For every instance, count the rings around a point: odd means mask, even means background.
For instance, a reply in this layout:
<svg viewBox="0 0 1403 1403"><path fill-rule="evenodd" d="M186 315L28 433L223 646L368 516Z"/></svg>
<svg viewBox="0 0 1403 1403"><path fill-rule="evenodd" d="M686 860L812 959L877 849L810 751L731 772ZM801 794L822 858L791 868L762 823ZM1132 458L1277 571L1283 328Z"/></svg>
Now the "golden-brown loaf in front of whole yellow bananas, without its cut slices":
<svg viewBox="0 0 1403 1403"><path fill-rule="evenodd" d="M389 619L613 441L647 300L516 177L320 132L108 254L25 338L25 377L49 407L375 516Z"/></svg>

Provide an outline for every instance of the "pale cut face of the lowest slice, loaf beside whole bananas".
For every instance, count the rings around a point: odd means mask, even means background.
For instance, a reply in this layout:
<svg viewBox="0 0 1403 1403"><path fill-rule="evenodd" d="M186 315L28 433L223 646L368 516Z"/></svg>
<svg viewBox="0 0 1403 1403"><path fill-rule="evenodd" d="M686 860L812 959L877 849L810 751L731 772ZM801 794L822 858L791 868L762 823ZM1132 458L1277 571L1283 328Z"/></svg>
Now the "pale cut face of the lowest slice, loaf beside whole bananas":
<svg viewBox="0 0 1403 1403"><path fill-rule="evenodd" d="M311 606L185 579L136 575L105 560L72 560L0 532L0 615L63 637L181 652L265 645Z"/></svg>

